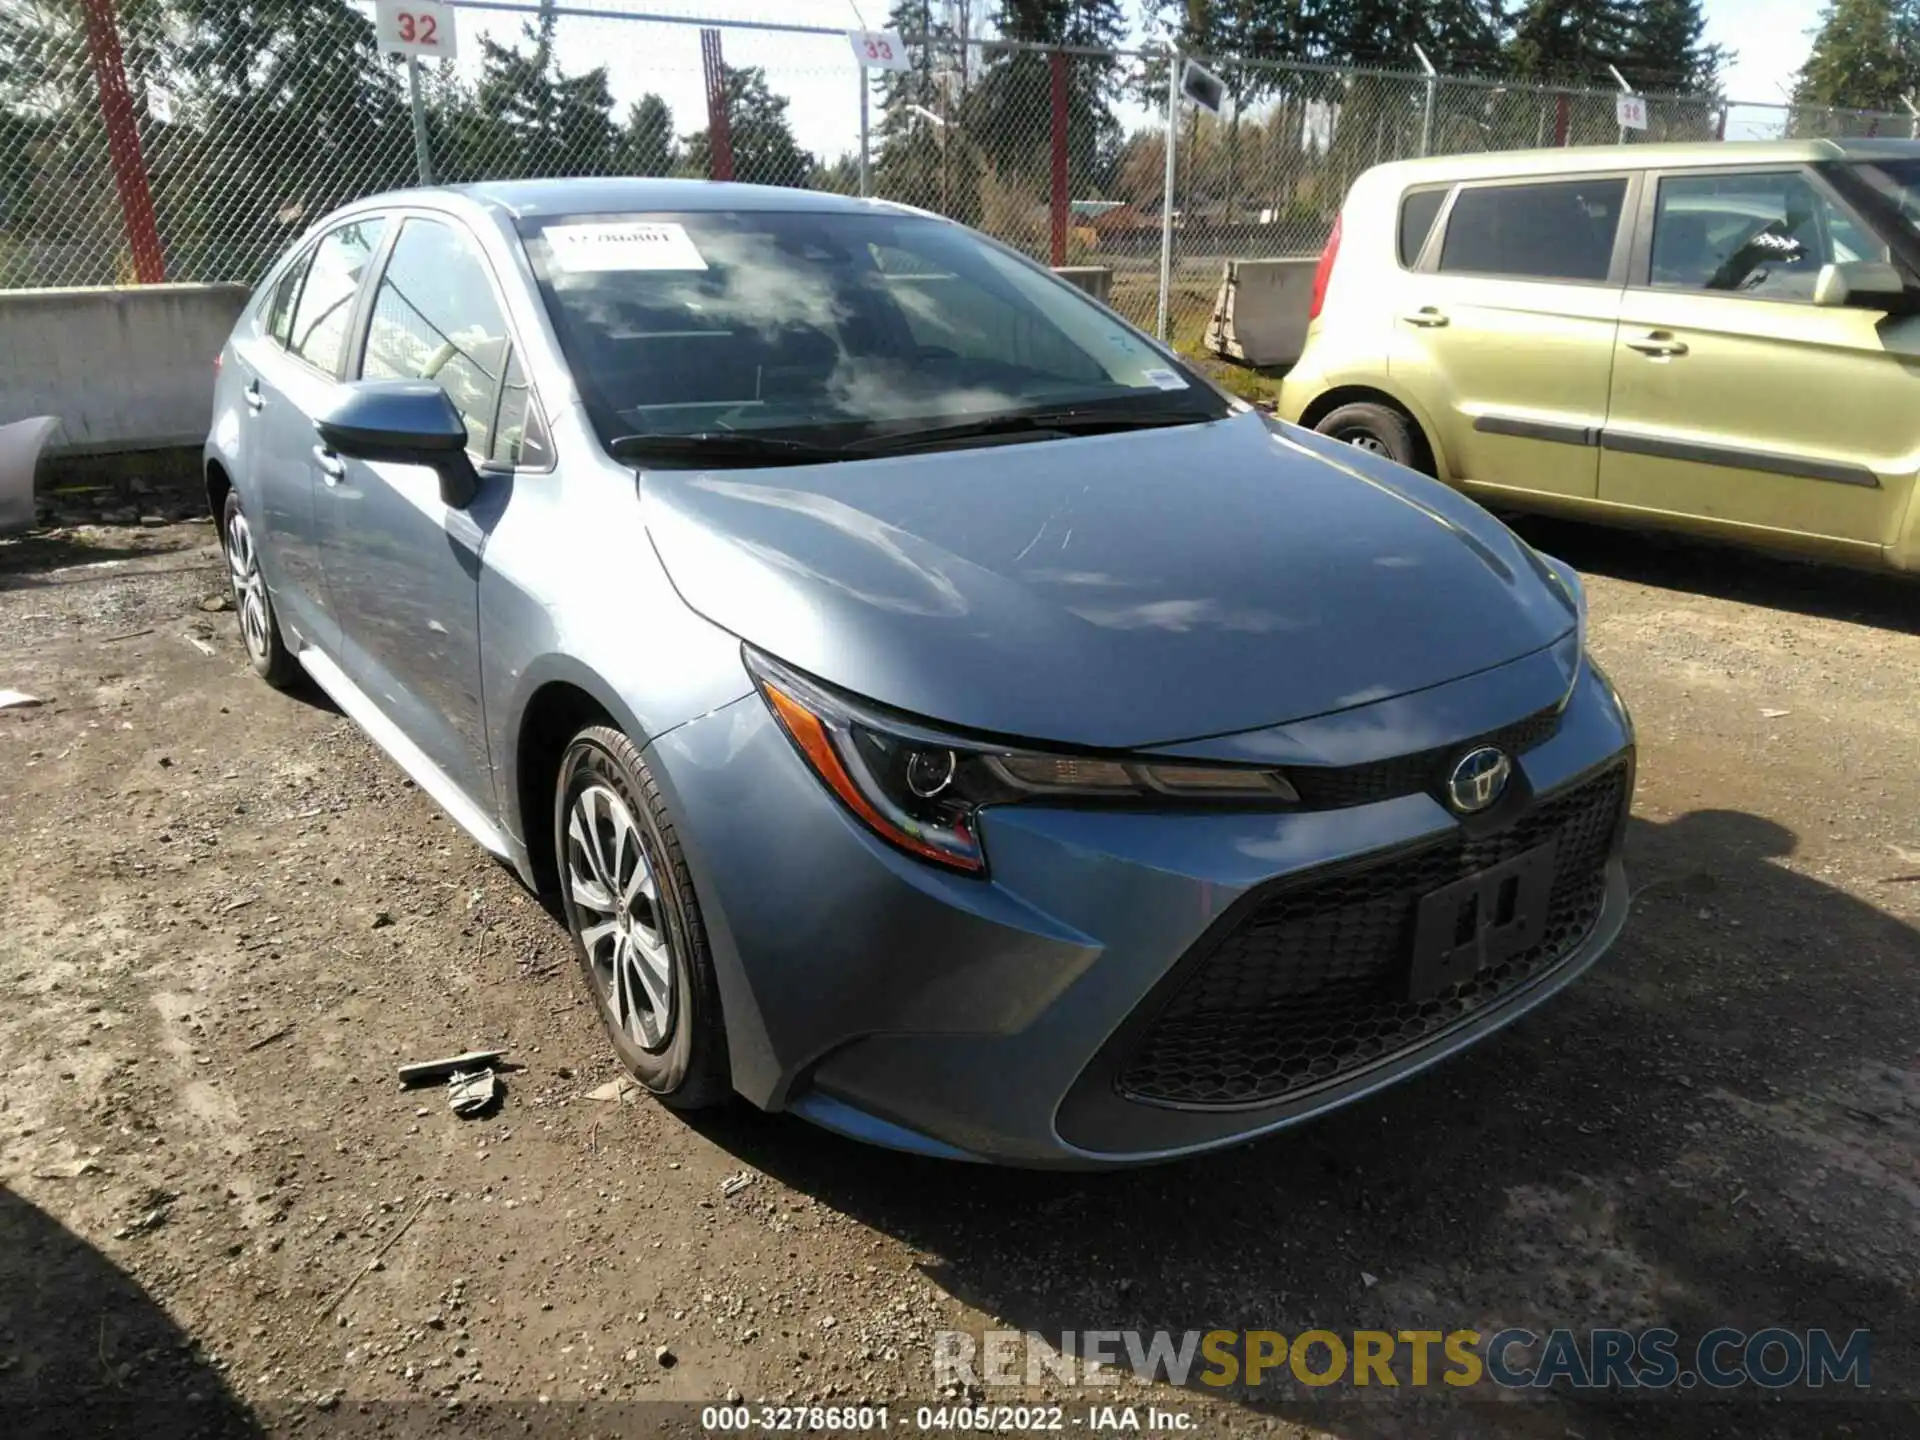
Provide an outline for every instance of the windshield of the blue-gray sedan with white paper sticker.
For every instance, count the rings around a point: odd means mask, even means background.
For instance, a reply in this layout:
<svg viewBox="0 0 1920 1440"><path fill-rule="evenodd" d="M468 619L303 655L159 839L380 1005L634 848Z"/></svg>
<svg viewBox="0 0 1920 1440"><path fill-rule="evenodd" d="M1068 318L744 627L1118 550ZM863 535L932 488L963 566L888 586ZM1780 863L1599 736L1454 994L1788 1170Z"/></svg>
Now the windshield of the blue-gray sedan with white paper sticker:
<svg viewBox="0 0 1920 1440"><path fill-rule="evenodd" d="M522 238L605 444L845 444L1066 407L1227 413L1104 309L945 221L586 215L526 221Z"/></svg>

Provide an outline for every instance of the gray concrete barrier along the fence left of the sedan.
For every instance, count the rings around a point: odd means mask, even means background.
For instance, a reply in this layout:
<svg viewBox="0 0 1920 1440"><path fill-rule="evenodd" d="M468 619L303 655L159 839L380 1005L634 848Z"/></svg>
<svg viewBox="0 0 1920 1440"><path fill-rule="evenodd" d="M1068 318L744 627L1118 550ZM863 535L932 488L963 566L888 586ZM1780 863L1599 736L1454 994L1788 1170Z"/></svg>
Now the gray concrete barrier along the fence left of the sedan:
<svg viewBox="0 0 1920 1440"><path fill-rule="evenodd" d="M0 424L54 415L48 457L198 445L238 284L0 290Z"/></svg>

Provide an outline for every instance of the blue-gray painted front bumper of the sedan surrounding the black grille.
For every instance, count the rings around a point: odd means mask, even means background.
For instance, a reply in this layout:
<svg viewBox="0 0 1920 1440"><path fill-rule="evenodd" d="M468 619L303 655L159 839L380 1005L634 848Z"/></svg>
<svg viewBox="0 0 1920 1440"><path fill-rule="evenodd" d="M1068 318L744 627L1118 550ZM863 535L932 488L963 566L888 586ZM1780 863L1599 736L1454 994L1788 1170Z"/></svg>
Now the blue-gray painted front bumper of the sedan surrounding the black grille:
<svg viewBox="0 0 1920 1440"><path fill-rule="evenodd" d="M1549 666L1515 662L1442 687L1428 708L1452 739L1467 739L1532 714L1548 684ZM1400 755L1419 728L1417 701L1346 712L1317 739L1346 747L1340 762L1369 758L1367 745L1379 758ZM1311 730L1277 732L1275 743L1304 743ZM1119 1083L1127 1043L1196 945L1277 883L1392 866L1471 826L1427 793L1284 816L1004 806L983 816L993 877L981 881L872 837L756 695L668 732L649 762L707 920L735 1089L924 1154L1091 1167L1242 1142L1509 1023L1605 952L1626 912L1622 803L1584 937L1524 983L1269 1102L1148 1104ZM1609 766L1624 770L1630 793L1630 722L1592 664L1555 733L1517 764L1540 804ZM1517 824L1530 808L1521 801L1505 818Z"/></svg>

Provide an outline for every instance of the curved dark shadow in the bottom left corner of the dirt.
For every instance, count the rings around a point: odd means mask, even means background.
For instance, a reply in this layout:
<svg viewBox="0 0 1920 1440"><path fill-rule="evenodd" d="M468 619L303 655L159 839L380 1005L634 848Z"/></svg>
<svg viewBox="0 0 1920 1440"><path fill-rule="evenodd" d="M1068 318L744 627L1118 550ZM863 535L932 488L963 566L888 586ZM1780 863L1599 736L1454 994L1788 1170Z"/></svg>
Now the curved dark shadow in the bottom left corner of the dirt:
<svg viewBox="0 0 1920 1440"><path fill-rule="evenodd" d="M261 1432L138 1281L0 1187L0 1434Z"/></svg>

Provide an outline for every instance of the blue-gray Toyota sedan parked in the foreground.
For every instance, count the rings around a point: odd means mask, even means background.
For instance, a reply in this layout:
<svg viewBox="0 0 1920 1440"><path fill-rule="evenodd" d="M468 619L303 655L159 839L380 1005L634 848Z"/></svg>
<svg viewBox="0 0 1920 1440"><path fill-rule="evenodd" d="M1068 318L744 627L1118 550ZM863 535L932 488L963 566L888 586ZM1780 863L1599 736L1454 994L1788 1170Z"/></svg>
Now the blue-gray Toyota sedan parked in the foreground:
<svg viewBox="0 0 1920 1440"><path fill-rule="evenodd" d="M1626 912L1578 578L929 215L359 202L242 315L205 465L253 666L559 899L672 1106L1208 1150Z"/></svg>

